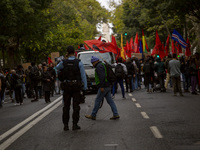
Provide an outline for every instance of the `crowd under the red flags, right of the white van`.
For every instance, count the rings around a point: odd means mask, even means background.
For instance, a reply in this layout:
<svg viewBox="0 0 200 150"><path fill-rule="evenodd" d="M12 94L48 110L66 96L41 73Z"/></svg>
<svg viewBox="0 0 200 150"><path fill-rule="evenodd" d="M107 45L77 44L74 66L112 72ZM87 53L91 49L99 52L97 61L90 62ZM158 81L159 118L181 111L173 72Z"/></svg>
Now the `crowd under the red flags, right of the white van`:
<svg viewBox="0 0 200 150"><path fill-rule="evenodd" d="M121 69L119 66L121 66ZM158 55L156 57L147 56L142 59L132 57L128 58L126 62L123 62L122 58L118 58L115 74L117 81L112 90L113 98L117 83L121 87L122 97L125 98L123 81L125 81L126 92L141 89L143 82L148 93L154 91L166 92L170 86L173 87L174 96L177 95L177 92L181 96L183 96L183 92L198 95L200 91L200 56L199 53L190 57L178 57L176 54L169 54L162 60Z"/></svg>

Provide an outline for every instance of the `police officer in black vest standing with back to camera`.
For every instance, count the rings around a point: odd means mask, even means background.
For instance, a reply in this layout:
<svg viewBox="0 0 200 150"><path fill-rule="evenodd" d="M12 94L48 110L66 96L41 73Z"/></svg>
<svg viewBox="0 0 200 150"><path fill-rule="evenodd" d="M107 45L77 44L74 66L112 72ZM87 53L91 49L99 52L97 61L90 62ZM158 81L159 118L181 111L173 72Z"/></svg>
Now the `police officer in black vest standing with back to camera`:
<svg viewBox="0 0 200 150"><path fill-rule="evenodd" d="M73 98L73 126L72 130L81 129L78 126L79 113L80 113L80 92L83 84L83 90L87 90L87 79L82 62L75 58L75 51L73 46L67 48L67 57L61 61L57 66L57 70L62 70L63 74L63 124L64 131L69 130L68 122L70 118L70 105Z"/></svg>

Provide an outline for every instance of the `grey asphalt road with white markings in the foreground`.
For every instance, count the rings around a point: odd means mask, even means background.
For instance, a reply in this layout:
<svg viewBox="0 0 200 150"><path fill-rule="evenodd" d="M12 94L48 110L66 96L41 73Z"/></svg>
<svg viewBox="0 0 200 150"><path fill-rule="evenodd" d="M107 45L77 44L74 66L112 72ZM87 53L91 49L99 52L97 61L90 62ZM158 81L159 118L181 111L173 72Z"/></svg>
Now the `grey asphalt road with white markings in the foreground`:
<svg viewBox="0 0 200 150"><path fill-rule="evenodd" d="M144 89L115 95L120 119L110 120L106 101L97 120L88 120L96 94L81 104L81 130L63 131L62 97L0 109L0 150L200 150L200 95L184 97ZM60 97L60 98L59 98Z"/></svg>

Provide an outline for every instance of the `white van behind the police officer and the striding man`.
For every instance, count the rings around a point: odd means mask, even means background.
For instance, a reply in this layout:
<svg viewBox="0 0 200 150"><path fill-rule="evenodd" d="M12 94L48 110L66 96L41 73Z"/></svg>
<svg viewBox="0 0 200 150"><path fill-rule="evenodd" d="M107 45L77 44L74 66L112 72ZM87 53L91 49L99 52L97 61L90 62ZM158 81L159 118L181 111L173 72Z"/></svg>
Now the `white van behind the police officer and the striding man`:
<svg viewBox="0 0 200 150"><path fill-rule="evenodd" d="M95 68L91 63L92 56L98 57L100 61L106 61L110 65L115 64L116 60L112 52L99 53L98 51L84 51L77 54L77 58L81 60L85 68L88 90L96 92L97 85L95 83Z"/></svg>

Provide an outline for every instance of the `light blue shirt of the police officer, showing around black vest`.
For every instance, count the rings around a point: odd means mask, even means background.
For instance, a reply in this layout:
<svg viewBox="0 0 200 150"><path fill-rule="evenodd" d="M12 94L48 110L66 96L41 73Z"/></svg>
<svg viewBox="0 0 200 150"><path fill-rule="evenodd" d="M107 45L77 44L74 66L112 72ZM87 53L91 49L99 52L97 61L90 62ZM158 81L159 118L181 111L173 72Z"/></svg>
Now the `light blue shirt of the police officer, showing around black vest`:
<svg viewBox="0 0 200 150"><path fill-rule="evenodd" d="M74 60L75 59L75 56L70 56L68 58L69 60ZM57 70L61 70L63 69L64 66L63 66L63 61L61 61L57 66L56 66L56 69ZM87 90L87 79L86 79L86 74L85 74L85 70L84 70L84 66L83 66L83 63L80 61L79 62L79 69L80 69L80 73L81 73L81 80L83 82L83 90Z"/></svg>

